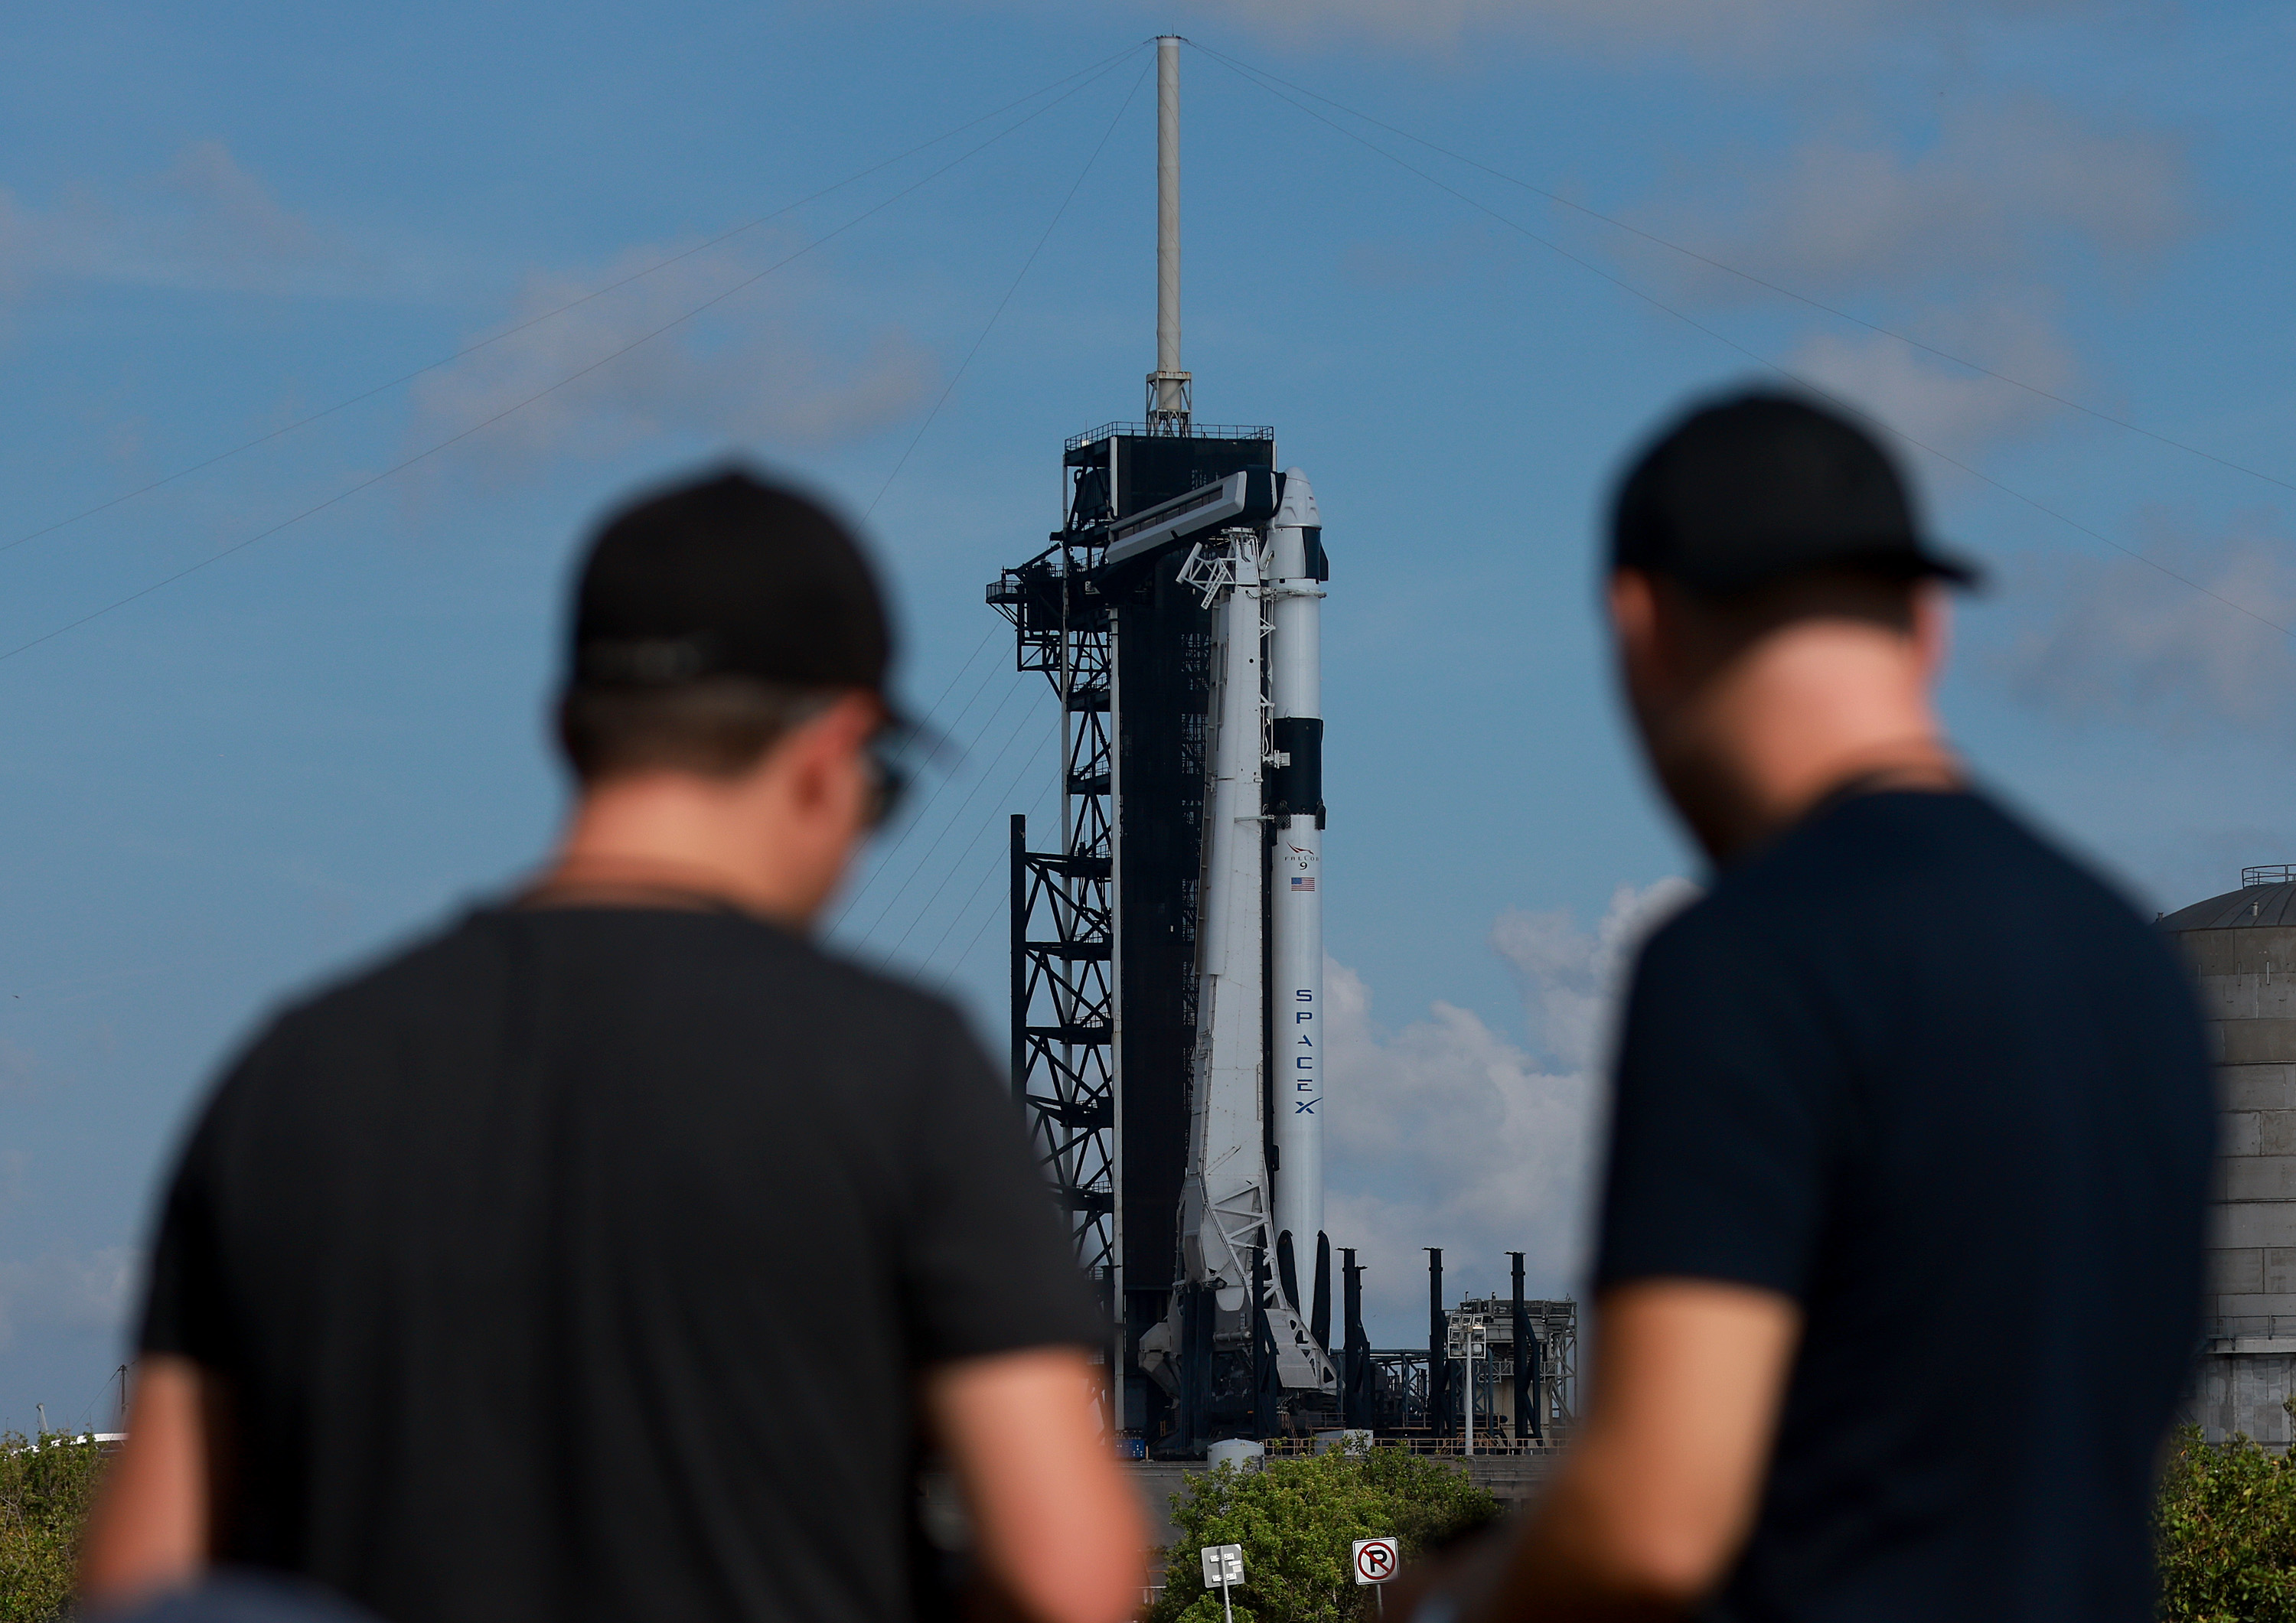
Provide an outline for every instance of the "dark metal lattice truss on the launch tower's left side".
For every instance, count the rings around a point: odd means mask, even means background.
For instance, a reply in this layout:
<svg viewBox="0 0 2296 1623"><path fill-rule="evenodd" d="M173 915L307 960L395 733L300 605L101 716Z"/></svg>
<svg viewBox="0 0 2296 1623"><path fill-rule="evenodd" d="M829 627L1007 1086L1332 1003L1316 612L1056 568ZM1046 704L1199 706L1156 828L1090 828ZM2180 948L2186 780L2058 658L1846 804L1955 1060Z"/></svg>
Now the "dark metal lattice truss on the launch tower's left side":
<svg viewBox="0 0 2296 1623"><path fill-rule="evenodd" d="M1013 1074L1038 1166L1070 1217L1077 1260L1116 1276L1116 895L1111 638L1086 590L1097 542L1070 530L1008 569L990 601L1019 668L1061 700L1061 847L1013 831Z"/></svg>

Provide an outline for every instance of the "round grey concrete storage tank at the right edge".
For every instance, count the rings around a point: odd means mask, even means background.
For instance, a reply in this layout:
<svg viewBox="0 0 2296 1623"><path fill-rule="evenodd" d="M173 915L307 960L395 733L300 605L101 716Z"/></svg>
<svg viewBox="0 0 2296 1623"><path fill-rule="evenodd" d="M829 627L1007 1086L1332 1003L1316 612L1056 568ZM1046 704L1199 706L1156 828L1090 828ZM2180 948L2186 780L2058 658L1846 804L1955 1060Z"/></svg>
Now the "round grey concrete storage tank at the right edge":
<svg viewBox="0 0 2296 1623"><path fill-rule="evenodd" d="M2161 921L2200 973L2216 1061L2209 1325L2193 1419L2211 1439L2287 1444L2296 1391L2296 868Z"/></svg>

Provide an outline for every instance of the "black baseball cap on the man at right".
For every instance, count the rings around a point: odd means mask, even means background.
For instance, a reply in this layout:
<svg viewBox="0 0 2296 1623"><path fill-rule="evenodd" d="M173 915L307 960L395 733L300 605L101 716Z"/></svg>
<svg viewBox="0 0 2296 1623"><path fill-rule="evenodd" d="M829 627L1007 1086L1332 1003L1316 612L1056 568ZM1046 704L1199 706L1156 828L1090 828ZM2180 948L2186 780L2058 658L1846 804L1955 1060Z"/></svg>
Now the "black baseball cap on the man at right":
<svg viewBox="0 0 2296 1623"><path fill-rule="evenodd" d="M1793 395L1736 395L1676 420L1621 482L1609 535L1612 569L1706 592L1809 569L1979 581L1922 535L1883 445Z"/></svg>

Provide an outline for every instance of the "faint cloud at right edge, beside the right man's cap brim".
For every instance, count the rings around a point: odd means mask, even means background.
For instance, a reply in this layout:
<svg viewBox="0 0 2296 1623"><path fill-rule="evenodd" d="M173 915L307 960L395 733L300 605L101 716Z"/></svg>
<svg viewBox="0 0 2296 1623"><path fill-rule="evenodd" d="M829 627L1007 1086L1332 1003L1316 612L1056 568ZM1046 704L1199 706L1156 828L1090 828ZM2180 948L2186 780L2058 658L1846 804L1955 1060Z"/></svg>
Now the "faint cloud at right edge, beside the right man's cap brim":
<svg viewBox="0 0 2296 1623"><path fill-rule="evenodd" d="M2202 590L2135 558L2032 562L2011 588L2046 608L1993 657L1995 673L2066 721L2167 735L2239 725L2296 741L2287 728L2296 654L2275 629L2296 627L2285 530L2271 514L2248 514L2195 537L2156 512L2140 526L2138 549Z"/></svg>

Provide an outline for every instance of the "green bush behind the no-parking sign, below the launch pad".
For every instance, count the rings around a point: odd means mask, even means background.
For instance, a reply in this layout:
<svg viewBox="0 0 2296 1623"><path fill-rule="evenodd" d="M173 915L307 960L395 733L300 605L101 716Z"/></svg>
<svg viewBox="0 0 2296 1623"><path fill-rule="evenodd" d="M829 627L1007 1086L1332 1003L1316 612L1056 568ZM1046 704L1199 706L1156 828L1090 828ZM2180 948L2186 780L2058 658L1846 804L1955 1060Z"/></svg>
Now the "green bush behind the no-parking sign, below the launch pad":
<svg viewBox="0 0 2296 1623"><path fill-rule="evenodd" d="M1205 1545L1244 1547L1235 1623L1371 1618L1373 1600L1350 1568L1357 1538L1401 1538L1407 1561L1499 1515L1458 1465L1405 1449L1221 1465L1187 1485L1187 1497L1173 1494L1180 1543L1146 1623L1221 1623L1219 1591L1203 1586Z"/></svg>

